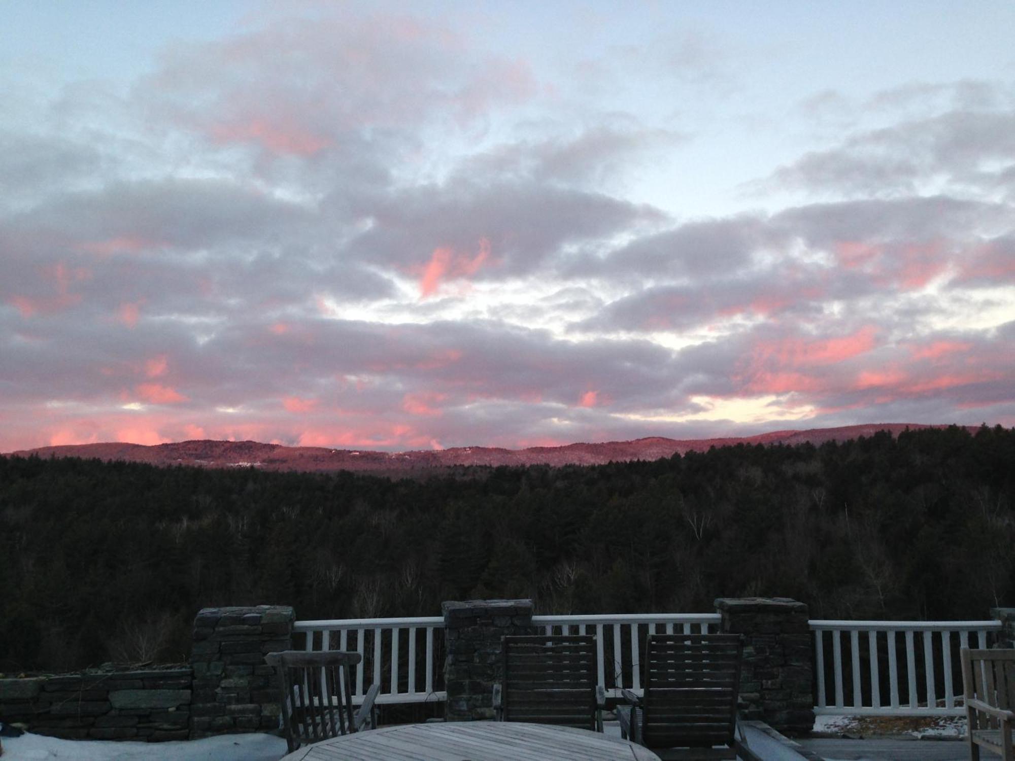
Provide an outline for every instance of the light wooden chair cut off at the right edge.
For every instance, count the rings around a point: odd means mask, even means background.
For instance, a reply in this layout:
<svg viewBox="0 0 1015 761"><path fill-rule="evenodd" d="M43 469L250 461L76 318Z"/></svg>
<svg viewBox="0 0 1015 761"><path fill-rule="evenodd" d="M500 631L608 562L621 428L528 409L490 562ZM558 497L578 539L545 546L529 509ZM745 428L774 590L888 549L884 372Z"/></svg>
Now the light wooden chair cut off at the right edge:
<svg viewBox="0 0 1015 761"><path fill-rule="evenodd" d="M962 648L962 687L969 723L969 758L979 761L979 746L1015 759L1015 649Z"/></svg>

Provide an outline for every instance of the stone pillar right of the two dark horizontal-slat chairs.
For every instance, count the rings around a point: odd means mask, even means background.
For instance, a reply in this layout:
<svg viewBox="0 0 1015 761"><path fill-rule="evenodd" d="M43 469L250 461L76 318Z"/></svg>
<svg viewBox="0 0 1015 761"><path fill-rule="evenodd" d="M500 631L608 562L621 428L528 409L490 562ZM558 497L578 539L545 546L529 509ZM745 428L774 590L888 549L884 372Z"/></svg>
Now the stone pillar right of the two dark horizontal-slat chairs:
<svg viewBox="0 0 1015 761"><path fill-rule="evenodd" d="M744 635L740 709L786 735L814 728L814 665L807 605L789 598L721 598L722 631Z"/></svg>

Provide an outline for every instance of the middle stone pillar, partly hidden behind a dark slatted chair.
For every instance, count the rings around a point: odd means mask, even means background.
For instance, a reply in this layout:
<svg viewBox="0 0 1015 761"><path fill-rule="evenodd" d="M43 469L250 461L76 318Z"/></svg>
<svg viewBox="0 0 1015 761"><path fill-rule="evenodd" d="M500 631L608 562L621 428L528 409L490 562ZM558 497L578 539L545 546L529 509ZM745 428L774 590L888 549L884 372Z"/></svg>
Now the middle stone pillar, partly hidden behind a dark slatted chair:
<svg viewBox="0 0 1015 761"><path fill-rule="evenodd" d="M441 611L448 638L446 720L493 718L493 683L503 677L500 637L537 633L532 601L449 601Z"/></svg>

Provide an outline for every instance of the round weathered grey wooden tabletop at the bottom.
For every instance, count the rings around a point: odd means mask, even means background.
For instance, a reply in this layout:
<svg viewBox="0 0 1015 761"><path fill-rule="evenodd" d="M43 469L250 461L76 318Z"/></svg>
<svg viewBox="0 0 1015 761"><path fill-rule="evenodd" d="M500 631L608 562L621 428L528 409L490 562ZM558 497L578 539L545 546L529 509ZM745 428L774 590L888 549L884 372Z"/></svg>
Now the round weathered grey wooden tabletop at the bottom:
<svg viewBox="0 0 1015 761"><path fill-rule="evenodd" d="M659 761L634 743L569 727L520 721L400 724L324 740L282 761Z"/></svg>

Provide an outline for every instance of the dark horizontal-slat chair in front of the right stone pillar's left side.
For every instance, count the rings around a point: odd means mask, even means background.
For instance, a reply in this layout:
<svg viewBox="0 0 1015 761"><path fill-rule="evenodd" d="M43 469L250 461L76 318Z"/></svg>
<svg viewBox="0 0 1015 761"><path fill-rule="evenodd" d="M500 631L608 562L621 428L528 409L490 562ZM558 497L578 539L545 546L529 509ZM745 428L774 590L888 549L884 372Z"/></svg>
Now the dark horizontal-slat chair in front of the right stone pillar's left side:
<svg viewBox="0 0 1015 761"><path fill-rule="evenodd" d="M754 758L737 738L742 658L739 634L649 635L644 697L621 691L621 736L664 759Z"/></svg>

